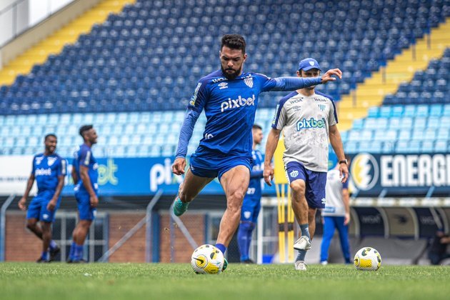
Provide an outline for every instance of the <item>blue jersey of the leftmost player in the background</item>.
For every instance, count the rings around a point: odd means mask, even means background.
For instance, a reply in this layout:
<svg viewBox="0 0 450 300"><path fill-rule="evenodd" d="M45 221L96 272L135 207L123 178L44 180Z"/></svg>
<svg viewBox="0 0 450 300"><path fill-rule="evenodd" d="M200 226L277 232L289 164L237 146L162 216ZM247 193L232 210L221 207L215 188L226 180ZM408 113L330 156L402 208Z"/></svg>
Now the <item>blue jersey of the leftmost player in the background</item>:
<svg viewBox="0 0 450 300"><path fill-rule="evenodd" d="M31 171L36 179L38 194L43 191L56 191L58 177L66 175L66 160L58 154L45 156L37 154L33 158L33 170Z"/></svg>

